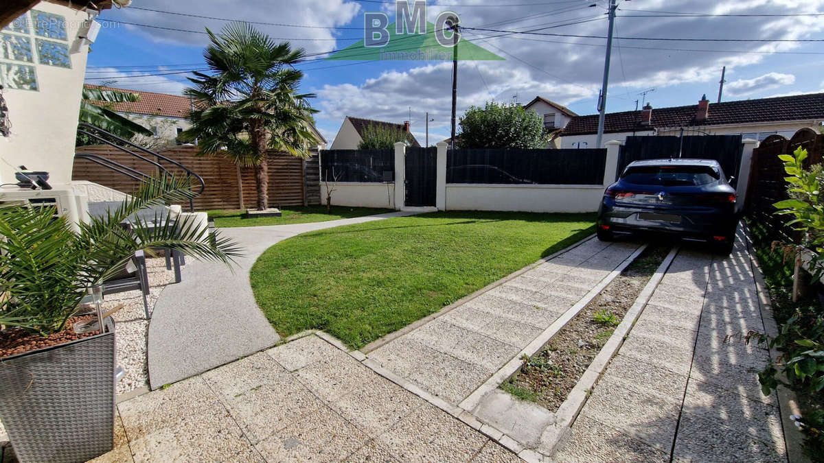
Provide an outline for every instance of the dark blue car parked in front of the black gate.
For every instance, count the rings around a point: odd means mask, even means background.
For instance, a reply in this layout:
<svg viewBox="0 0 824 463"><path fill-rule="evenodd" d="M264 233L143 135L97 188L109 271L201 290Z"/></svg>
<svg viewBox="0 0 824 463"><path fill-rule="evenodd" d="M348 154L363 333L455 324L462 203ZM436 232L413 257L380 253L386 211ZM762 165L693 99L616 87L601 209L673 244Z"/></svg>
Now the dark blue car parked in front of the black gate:
<svg viewBox="0 0 824 463"><path fill-rule="evenodd" d="M709 241L729 255L738 224L735 189L718 161L654 159L634 161L604 192L597 236L652 232Z"/></svg>

